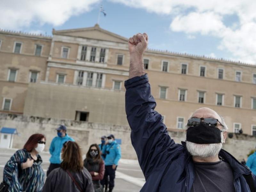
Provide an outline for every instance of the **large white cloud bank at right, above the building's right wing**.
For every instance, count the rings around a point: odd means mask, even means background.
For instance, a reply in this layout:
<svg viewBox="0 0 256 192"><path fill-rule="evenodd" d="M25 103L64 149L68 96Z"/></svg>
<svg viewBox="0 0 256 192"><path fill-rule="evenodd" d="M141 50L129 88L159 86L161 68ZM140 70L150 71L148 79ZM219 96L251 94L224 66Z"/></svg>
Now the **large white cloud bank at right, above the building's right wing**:
<svg viewBox="0 0 256 192"><path fill-rule="evenodd" d="M110 0L149 12L174 17L170 29L220 38L219 49L237 60L256 63L255 0ZM223 18L236 15L238 22L228 27Z"/></svg>

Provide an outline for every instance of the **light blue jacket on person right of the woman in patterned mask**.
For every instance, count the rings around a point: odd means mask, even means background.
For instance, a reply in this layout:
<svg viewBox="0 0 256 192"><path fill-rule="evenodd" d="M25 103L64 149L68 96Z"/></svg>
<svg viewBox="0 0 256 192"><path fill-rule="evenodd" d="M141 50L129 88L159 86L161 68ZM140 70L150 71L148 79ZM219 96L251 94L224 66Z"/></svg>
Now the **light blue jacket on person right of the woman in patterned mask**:
<svg viewBox="0 0 256 192"><path fill-rule="evenodd" d="M109 151L109 154L106 151ZM106 155L104 158L105 165L118 165L118 161L121 158L121 147L116 141L113 141L103 147L102 154Z"/></svg>

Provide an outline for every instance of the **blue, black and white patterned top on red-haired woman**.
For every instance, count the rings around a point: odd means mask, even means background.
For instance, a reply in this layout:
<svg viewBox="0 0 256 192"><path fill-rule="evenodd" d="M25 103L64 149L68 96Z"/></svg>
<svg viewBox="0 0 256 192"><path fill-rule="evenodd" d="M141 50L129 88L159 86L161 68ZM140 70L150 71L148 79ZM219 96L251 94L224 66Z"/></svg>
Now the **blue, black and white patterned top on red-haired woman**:
<svg viewBox="0 0 256 192"><path fill-rule="evenodd" d="M4 182L9 185L9 192L29 191L41 192L44 186L45 174L41 166L42 158L37 155L37 161L32 167L21 169L21 163L32 159L26 149L20 149L14 153L4 166Z"/></svg>

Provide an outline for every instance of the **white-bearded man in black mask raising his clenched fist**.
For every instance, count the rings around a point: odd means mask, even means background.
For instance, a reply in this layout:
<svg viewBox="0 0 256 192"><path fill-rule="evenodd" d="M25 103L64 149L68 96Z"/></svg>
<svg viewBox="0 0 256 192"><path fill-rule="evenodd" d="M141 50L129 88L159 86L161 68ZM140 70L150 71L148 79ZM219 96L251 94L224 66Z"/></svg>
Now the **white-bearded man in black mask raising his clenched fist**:
<svg viewBox="0 0 256 192"><path fill-rule="evenodd" d="M141 191L255 191L255 176L221 149L227 126L210 108L197 109L188 120L187 142L176 144L168 135L145 74L143 53L147 34L129 39L130 71L125 81L125 110L132 145L146 178ZM170 109L170 112L173 109Z"/></svg>

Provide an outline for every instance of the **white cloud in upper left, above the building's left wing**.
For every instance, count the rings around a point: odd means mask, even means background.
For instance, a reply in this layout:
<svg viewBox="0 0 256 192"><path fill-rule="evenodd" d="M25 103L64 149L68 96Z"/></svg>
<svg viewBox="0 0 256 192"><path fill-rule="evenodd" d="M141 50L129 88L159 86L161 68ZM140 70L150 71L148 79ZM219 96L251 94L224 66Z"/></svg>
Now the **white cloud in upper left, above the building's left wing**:
<svg viewBox="0 0 256 192"><path fill-rule="evenodd" d="M20 29L32 22L61 25L72 15L90 11L100 0L2 0L0 28Z"/></svg>

